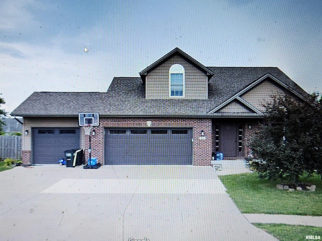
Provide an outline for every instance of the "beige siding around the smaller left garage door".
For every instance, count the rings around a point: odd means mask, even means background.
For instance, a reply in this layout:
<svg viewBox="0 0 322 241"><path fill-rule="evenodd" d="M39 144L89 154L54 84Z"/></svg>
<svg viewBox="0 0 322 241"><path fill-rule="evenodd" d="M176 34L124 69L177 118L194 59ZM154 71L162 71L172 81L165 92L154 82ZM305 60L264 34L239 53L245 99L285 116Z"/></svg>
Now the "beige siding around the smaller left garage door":
<svg viewBox="0 0 322 241"><path fill-rule="evenodd" d="M28 136L23 135L22 150L31 151L31 129L32 128L77 128L77 117L24 117L23 134L28 130ZM81 128L80 146L84 149L84 130Z"/></svg>

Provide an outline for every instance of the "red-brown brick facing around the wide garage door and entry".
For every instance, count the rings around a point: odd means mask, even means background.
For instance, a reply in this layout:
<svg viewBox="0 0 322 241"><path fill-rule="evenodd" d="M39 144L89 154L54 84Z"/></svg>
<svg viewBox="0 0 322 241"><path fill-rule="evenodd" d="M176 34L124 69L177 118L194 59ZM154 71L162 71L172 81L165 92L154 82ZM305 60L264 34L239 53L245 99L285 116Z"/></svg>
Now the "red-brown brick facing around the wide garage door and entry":
<svg viewBox="0 0 322 241"><path fill-rule="evenodd" d="M149 128L147 121L151 122L151 128L192 128L193 129L193 165L211 165L211 154L214 150L214 123L209 119L182 119L182 118L100 118L100 126L92 129L95 136L91 136L92 157L97 157L98 162L104 164L105 155L105 128ZM251 129L249 128L251 126ZM244 124L244 157L250 153L251 137L261 128L260 122L251 121ZM204 131L204 137L201 137ZM89 136L81 132L81 143L85 143L85 160L88 160ZM22 151L23 164L31 164L31 151Z"/></svg>

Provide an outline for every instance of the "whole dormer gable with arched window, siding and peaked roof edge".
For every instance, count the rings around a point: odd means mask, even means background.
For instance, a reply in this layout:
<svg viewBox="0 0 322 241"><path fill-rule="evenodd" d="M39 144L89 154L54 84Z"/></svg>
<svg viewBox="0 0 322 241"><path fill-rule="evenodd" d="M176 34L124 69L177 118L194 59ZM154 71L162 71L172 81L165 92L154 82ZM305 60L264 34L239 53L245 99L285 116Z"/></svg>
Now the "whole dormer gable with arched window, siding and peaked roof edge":
<svg viewBox="0 0 322 241"><path fill-rule="evenodd" d="M139 74L146 99L207 99L214 73L175 48Z"/></svg>

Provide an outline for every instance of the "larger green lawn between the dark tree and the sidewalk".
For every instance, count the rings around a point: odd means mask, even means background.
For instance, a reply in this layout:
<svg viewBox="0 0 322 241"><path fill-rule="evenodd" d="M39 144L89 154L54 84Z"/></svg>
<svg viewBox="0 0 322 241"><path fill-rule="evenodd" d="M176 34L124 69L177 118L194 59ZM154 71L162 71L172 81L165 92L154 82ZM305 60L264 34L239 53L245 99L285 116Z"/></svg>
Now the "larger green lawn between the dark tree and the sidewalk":
<svg viewBox="0 0 322 241"><path fill-rule="evenodd" d="M256 173L219 178L241 212L322 216L322 181L319 175L300 178L300 181L315 184L315 192L280 190L276 184L281 181L260 180Z"/></svg>

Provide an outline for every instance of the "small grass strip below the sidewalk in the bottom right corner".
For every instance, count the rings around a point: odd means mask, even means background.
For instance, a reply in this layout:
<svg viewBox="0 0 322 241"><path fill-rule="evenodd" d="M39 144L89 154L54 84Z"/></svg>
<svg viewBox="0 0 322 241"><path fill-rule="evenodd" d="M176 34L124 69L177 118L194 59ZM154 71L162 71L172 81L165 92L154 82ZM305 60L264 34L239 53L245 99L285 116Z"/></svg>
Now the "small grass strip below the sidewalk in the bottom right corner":
<svg viewBox="0 0 322 241"><path fill-rule="evenodd" d="M263 223L255 223L254 225L272 234L280 241L303 241L307 240L306 235L320 235L322 238L321 227Z"/></svg>

